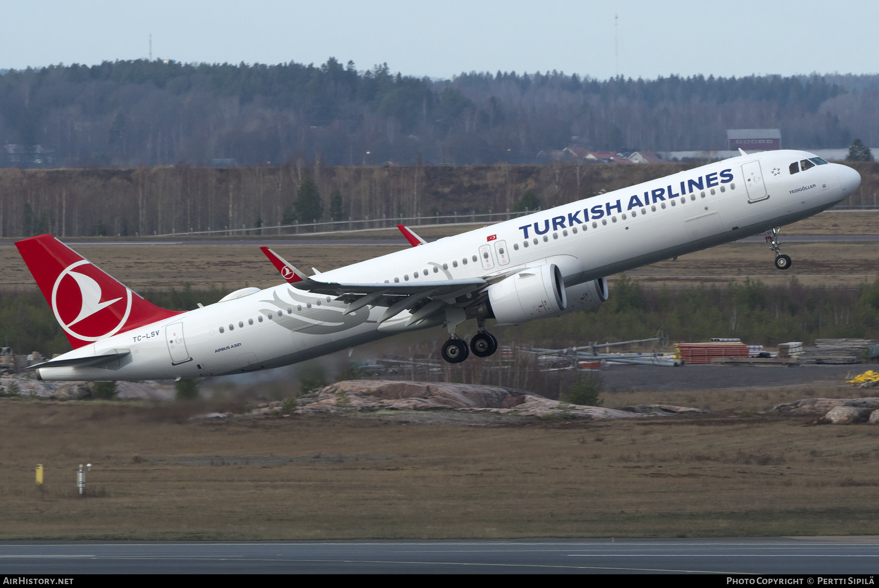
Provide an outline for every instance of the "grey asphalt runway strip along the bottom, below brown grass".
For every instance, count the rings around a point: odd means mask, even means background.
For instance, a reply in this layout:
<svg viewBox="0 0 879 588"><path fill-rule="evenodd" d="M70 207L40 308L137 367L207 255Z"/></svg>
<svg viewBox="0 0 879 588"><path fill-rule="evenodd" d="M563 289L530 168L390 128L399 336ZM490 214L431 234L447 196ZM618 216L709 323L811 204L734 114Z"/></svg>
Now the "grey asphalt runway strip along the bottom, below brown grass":
<svg viewBox="0 0 879 588"><path fill-rule="evenodd" d="M112 542L0 544L0 574L870 574L879 540Z"/></svg>

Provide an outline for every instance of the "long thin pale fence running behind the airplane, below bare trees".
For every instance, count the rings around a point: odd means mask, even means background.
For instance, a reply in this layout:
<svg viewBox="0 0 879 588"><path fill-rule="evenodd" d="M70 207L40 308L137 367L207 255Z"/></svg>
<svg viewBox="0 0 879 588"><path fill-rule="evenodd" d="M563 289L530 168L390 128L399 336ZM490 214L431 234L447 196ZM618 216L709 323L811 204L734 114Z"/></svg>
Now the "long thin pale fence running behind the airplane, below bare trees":
<svg viewBox="0 0 879 588"><path fill-rule="evenodd" d="M537 210L540 210L538 208ZM437 227L440 225L469 225L469 224L480 224L483 222L494 223L499 221L509 221L510 219L517 218L519 216L523 216L525 214L531 214L536 211L534 210L526 210L519 213L476 213L476 211L471 211L470 214L445 214L439 215L436 214L434 216L399 216L394 218L381 218L381 219L362 219L360 221L354 221L353 219L348 219L347 221L329 221L329 222L298 222L295 224L287 224L287 225L272 225L271 227L244 227L241 229L216 229L216 230L197 230L197 231L187 231L185 233L163 233L162 235L153 235L153 236L186 236L186 235L231 235L233 233L244 233L250 234L253 231L256 235L265 235L264 231L267 230L277 230L278 234L280 234L281 229L293 229L292 234L299 234L300 229L305 229L304 232L307 235L321 235L325 233L345 233L349 231L363 231L363 230L381 230L381 229L390 229L392 227L396 227L398 224L406 224L406 221L417 221L411 223L413 227ZM430 224L425 224L424 221L432 221ZM355 225L359 225L360 229L354 229ZM378 225L378 226L376 226ZM321 232L317 231L318 227L330 227L330 230L324 230ZM347 229L345 229L347 226ZM308 229L311 229L310 231Z"/></svg>

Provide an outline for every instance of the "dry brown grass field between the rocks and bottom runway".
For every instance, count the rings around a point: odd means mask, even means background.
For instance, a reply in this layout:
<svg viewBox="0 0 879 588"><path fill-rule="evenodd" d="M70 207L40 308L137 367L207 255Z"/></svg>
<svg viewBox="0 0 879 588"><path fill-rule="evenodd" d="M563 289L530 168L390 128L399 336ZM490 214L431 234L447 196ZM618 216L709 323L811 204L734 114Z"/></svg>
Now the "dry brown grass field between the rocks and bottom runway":
<svg viewBox="0 0 879 588"><path fill-rule="evenodd" d="M136 403L0 404L4 540L875 533L871 425L180 423Z"/></svg>

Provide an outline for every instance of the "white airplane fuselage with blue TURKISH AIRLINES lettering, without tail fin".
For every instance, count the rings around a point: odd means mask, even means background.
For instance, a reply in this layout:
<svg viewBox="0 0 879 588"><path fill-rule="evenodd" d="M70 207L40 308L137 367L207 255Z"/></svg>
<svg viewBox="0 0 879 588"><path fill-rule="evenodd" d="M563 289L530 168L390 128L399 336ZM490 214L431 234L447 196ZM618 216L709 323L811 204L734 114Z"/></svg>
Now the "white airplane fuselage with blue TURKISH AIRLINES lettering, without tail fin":
<svg viewBox="0 0 879 588"><path fill-rule="evenodd" d="M809 157L814 155L783 150L710 163L324 272L317 279L417 283L483 278L551 263L570 287L798 221L843 200L860 182L856 172L834 163L788 172L791 163ZM644 201L645 192L650 202ZM410 313L403 312L377 324L384 308L366 307L347 316L344 309L341 301L285 283L58 358L130 351L115 365L40 368L39 375L44 380L160 380L238 374L443 323L405 327Z"/></svg>

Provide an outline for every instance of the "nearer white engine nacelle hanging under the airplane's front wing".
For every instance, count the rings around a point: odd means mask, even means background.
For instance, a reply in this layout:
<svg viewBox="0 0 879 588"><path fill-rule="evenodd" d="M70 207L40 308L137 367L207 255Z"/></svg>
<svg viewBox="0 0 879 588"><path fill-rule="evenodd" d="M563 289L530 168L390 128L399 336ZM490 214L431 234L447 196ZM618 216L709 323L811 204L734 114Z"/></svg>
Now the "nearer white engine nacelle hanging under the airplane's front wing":
<svg viewBox="0 0 879 588"><path fill-rule="evenodd" d="M568 307L562 271L556 264L529 267L488 290L491 311L500 324L562 315Z"/></svg>

